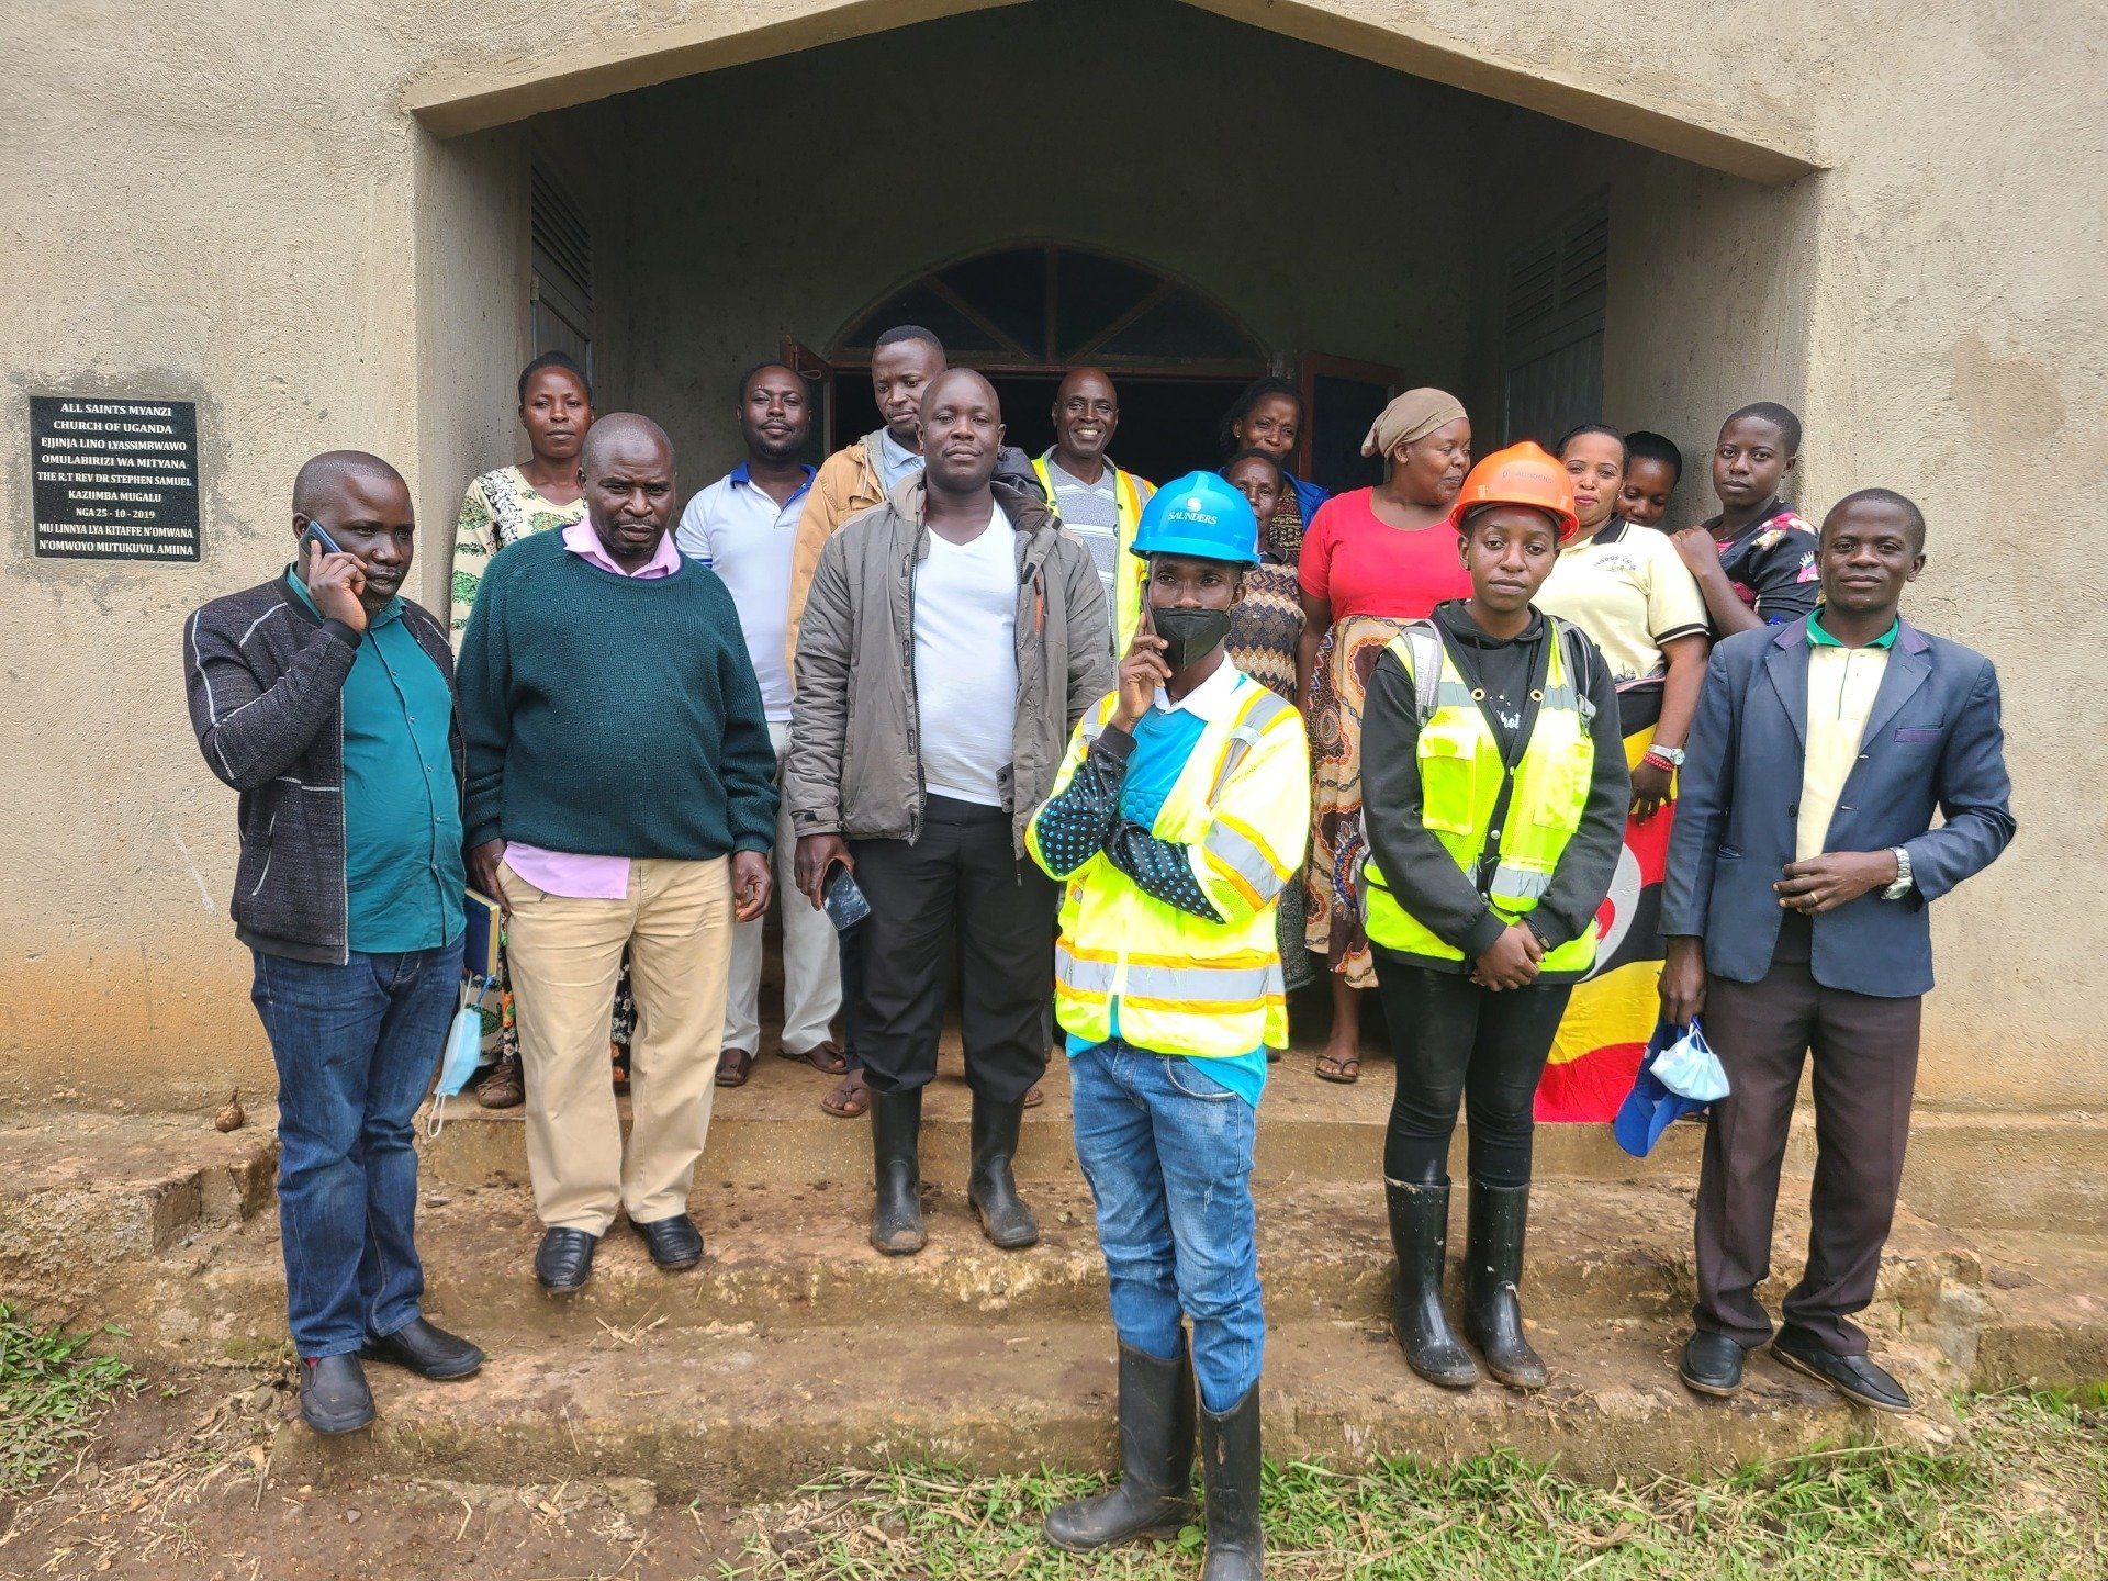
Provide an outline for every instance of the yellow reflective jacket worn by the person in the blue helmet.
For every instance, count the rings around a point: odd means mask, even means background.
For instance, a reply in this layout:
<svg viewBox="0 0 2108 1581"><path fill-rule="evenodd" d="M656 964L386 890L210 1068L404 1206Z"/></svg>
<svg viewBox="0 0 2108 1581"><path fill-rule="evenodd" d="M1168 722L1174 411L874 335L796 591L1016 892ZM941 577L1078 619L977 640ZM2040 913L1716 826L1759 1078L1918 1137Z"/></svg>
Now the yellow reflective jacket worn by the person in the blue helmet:
<svg viewBox="0 0 2108 1581"><path fill-rule="evenodd" d="M1069 740L1054 795L1075 778L1113 708ZM1311 776L1303 715L1246 675L1210 721L1149 833L1189 845L1193 879L1223 921L1157 900L1105 856L1067 875L1054 944L1054 1018L1090 1043L1119 1035L1157 1054L1229 1058L1288 1048L1275 900L1303 864ZM1024 843L1056 879L1033 816Z"/></svg>

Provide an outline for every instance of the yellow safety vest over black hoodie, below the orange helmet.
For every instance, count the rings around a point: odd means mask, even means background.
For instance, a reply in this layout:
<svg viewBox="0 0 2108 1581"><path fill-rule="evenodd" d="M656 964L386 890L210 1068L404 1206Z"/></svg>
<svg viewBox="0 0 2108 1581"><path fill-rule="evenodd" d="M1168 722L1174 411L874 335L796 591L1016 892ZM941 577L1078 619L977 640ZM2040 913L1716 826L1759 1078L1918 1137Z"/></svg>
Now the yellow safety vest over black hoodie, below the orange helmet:
<svg viewBox="0 0 2108 1581"><path fill-rule="evenodd" d="M1509 923L1528 917L1551 885L1566 841L1581 826L1589 782L1596 774L1596 742L1589 736L1583 698L1566 672L1562 624L1551 620L1543 700L1537 704L1537 723L1522 748L1522 763L1516 765L1516 788L1501 828L1501 850L1492 879L1486 883L1486 900L1495 915ZM1492 727L1486 723L1471 685L1431 626L1419 624L1400 632L1391 639L1389 651L1398 653L1408 677L1417 677L1417 651L1427 658L1442 656L1440 681L1431 700L1433 713L1421 725L1417 755L1421 822L1457 858L1459 868L1476 875L1486 852L1492 807L1507 780L1501 746L1492 738ZM1362 873L1368 879L1370 942L1398 955L1433 961L1463 959L1463 951L1436 938L1398 902L1377 868L1374 854ZM1579 938L1549 951L1541 965L1545 972L1587 972L1594 963L1596 930L1589 925L1581 930Z"/></svg>

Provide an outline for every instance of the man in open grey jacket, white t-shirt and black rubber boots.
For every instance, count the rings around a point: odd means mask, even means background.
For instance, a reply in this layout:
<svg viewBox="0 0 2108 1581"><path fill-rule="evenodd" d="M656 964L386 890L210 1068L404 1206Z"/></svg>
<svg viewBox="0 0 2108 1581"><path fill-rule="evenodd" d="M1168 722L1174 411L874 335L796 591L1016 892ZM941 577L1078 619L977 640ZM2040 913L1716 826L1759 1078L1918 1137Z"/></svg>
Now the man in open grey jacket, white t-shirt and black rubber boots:
<svg viewBox="0 0 2108 1581"><path fill-rule="evenodd" d="M797 877L837 868L871 902L860 1046L881 1252L923 1246L921 1090L951 978L974 1088L968 1197L989 1240L1039 1227L1010 1159L1046 1071L1056 890L1024 856L1069 731L1113 683L1105 588L1046 502L995 481L993 386L940 373L921 401L923 474L828 540L797 643L784 797Z"/></svg>

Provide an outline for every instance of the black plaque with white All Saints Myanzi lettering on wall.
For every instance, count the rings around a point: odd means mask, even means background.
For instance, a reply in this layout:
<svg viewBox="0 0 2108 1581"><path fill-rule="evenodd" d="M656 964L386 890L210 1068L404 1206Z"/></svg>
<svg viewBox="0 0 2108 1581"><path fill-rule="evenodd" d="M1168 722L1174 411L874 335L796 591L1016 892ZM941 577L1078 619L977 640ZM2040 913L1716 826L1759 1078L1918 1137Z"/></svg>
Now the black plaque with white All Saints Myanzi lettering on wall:
<svg viewBox="0 0 2108 1581"><path fill-rule="evenodd" d="M36 552L76 561L196 561L192 401L30 396Z"/></svg>

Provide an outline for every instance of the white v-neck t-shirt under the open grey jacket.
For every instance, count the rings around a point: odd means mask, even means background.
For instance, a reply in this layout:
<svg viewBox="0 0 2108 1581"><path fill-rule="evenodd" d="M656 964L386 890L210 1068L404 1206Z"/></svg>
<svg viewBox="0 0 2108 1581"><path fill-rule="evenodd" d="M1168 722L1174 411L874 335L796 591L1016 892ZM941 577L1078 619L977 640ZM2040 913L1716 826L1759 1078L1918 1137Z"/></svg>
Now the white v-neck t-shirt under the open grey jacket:
<svg viewBox="0 0 2108 1581"><path fill-rule="evenodd" d="M1003 805L1018 727L1018 546L1001 506L970 544L930 533L915 567L923 788Z"/></svg>

